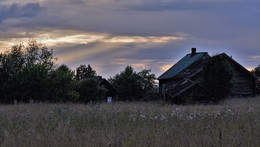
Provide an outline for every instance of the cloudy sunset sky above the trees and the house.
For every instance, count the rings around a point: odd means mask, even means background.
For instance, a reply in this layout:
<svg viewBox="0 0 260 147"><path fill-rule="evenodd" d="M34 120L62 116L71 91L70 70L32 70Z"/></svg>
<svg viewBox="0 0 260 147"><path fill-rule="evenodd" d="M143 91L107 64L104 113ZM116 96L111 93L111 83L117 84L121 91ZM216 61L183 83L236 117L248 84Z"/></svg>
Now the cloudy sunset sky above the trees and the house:
<svg viewBox="0 0 260 147"><path fill-rule="evenodd" d="M131 65L160 76L190 53L260 64L259 0L0 0L0 52L36 39L58 64L113 77Z"/></svg>

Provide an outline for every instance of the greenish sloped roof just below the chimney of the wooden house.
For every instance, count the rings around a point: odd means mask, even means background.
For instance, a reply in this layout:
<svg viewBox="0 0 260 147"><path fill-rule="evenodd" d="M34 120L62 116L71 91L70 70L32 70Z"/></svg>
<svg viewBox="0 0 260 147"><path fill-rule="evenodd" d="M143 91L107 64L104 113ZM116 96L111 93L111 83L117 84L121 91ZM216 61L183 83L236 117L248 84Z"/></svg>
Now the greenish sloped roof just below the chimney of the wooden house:
<svg viewBox="0 0 260 147"><path fill-rule="evenodd" d="M198 52L195 54L187 54L180 61L174 64L170 69L158 77L158 80L170 79L176 76L178 73L182 72L188 68L193 63L200 61L202 59L210 58L207 52Z"/></svg>

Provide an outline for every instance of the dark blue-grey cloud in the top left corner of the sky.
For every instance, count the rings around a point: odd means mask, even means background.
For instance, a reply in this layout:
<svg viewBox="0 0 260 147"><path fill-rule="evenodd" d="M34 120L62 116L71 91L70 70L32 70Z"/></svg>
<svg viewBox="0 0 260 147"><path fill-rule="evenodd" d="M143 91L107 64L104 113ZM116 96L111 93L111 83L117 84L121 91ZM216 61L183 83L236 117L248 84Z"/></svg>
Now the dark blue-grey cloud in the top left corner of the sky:
<svg viewBox="0 0 260 147"><path fill-rule="evenodd" d="M2 5L0 4L0 22L14 17L33 17L42 8L38 3L28 3L23 6L18 4Z"/></svg>

